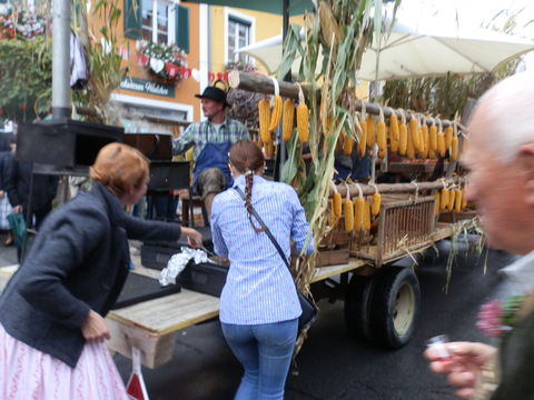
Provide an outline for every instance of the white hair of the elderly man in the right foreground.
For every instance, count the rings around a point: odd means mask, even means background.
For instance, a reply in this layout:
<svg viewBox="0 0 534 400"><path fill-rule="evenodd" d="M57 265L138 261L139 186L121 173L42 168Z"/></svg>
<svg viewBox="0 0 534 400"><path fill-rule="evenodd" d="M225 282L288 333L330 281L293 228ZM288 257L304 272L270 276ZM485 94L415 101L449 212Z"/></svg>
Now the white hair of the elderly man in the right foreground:
<svg viewBox="0 0 534 400"><path fill-rule="evenodd" d="M512 162L521 146L534 142L534 73L498 82L481 97L475 112L488 127L488 148L501 162Z"/></svg>

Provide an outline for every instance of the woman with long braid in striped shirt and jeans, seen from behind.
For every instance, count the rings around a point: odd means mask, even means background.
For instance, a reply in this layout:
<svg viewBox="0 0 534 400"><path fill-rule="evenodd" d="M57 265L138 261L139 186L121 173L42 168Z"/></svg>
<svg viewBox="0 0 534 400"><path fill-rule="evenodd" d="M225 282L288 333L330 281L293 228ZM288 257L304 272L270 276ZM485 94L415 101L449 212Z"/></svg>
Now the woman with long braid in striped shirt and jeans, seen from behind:
<svg viewBox="0 0 534 400"><path fill-rule="evenodd" d="M283 399L301 309L293 277L253 208L285 257L291 241L312 253L313 238L306 241L309 226L295 190L261 177L265 159L256 143L236 142L229 168L234 186L215 197L211 234L215 252L230 261L220 322L245 369L235 399Z"/></svg>

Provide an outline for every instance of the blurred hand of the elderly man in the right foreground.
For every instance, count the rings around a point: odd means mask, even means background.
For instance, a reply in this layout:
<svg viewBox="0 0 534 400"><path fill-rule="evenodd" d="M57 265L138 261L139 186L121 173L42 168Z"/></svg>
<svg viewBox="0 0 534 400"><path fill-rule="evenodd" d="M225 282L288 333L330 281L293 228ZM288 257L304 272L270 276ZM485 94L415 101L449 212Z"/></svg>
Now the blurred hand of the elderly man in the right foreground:
<svg viewBox="0 0 534 400"><path fill-rule="evenodd" d="M481 378L484 366L496 353L497 349L484 343L449 342L444 344L449 358L443 359L437 351L429 348L424 352L431 362L431 371L447 373L447 381L456 388L456 396L461 399L471 399Z"/></svg>

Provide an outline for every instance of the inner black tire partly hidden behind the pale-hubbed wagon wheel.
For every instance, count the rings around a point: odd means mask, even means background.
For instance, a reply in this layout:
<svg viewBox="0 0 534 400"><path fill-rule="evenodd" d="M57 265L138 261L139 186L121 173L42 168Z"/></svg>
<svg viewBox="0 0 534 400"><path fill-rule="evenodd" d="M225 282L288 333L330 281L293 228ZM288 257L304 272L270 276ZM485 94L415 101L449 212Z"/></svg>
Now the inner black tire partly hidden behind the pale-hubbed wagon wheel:
<svg viewBox="0 0 534 400"><path fill-rule="evenodd" d="M375 280L353 274L345 297L345 323L357 339L372 340L370 300Z"/></svg>

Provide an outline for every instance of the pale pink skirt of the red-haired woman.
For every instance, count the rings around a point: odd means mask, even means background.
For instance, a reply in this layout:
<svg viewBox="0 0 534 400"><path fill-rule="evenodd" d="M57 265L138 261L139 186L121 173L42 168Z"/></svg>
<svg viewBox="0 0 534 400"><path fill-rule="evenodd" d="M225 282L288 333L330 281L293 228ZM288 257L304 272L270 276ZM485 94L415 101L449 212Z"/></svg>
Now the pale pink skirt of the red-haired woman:
<svg viewBox="0 0 534 400"><path fill-rule="evenodd" d="M72 369L12 338L0 323L0 399L128 400L128 396L106 343L86 343Z"/></svg>

